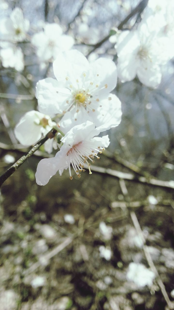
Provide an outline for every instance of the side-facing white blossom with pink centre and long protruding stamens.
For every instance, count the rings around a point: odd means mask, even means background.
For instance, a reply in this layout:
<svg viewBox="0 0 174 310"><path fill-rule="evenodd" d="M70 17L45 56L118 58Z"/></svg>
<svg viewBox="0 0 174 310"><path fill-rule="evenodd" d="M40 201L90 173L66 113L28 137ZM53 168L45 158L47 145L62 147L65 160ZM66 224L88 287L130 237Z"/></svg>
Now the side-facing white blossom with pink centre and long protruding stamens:
<svg viewBox="0 0 174 310"><path fill-rule="evenodd" d="M87 121L81 125L74 126L62 139L62 147L53 158L42 159L37 166L36 182L38 185L45 185L50 178L64 169L69 169L72 180L71 165L76 175L80 178L80 172L85 168L90 170L90 161L94 162L94 157L99 159L98 152L102 153L104 147L109 145L108 136L94 137L100 131L92 122Z"/></svg>

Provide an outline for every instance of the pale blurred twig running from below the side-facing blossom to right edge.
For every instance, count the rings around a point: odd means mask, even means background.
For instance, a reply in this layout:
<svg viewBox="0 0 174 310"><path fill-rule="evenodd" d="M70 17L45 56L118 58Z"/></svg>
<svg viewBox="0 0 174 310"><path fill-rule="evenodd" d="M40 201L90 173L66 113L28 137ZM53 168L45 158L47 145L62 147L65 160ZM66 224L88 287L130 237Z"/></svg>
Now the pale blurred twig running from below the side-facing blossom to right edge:
<svg viewBox="0 0 174 310"><path fill-rule="evenodd" d="M150 184L150 185L154 185L154 186L174 189L174 181L173 180L163 181L163 180L159 180L159 179L146 178L143 176L138 177L136 175L133 175L132 173L125 173L125 172L118 171L118 170L113 170L113 169L103 168L103 167L98 167L98 166L92 166L92 165L90 166L90 168L91 168L91 171L95 171L95 172L107 174L107 175L112 175L118 179L131 180L131 181Z"/></svg>

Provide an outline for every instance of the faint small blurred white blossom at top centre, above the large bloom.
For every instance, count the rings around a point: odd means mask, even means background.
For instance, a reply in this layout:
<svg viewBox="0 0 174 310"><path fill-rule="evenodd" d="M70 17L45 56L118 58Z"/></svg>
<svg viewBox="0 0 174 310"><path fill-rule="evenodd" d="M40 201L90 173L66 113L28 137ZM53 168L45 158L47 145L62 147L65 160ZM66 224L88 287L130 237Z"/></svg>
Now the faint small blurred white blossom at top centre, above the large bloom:
<svg viewBox="0 0 174 310"><path fill-rule="evenodd" d="M96 44L99 41L100 31L97 28L89 27L86 23L80 23L77 35L86 44Z"/></svg>

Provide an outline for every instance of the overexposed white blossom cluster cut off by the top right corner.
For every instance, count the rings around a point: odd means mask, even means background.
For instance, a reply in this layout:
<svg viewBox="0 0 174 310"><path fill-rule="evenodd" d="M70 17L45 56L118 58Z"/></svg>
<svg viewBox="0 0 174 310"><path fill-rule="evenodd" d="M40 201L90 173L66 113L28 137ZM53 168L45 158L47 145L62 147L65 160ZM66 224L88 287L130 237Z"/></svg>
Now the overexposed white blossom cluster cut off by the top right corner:
<svg viewBox="0 0 174 310"><path fill-rule="evenodd" d="M174 57L174 2L149 0L141 22L133 30L122 31L115 48L118 77L155 88L162 79L162 65Z"/></svg>

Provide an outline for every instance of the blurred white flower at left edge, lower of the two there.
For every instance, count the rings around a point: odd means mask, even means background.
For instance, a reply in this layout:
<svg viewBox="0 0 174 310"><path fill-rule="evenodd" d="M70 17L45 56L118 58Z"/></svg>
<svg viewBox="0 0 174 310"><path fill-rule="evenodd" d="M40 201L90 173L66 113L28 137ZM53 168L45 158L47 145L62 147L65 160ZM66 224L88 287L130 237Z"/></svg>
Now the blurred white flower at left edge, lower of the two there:
<svg viewBox="0 0 174 310"><path fill-rule="evenodd" d="M24 55L20 47L9 45L7 48L2 48L0 50L0 57L4 68L11 67L17 71L24 69Z"/></svg>

